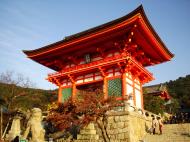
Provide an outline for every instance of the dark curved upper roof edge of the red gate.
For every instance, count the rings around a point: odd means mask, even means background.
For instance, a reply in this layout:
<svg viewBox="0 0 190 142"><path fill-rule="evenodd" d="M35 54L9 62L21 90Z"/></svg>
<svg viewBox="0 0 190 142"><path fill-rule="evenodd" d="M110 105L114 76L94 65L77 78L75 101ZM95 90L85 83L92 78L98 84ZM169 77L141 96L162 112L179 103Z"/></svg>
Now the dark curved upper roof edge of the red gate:
<svg viewBox="0 0 190 142"><path fill-rule="evenodd" d="M128 20L130 18L132 18L135 15L140 14L144 20L144 22L146 23L146 26L148 26L149 30L151 31L151 33L154 35L154 37L156 38L156 40L159 42L159 44L161 45L161 47L163 48L163 50L167 53L168 55L168 60L170 60L174 55L168 50L168 48L165 46L165 44L163 43L163 41L161 40L161 38L158 36L158 34L156 33L156 31L154 30L154 28L152 27L152 25L150 24L143 6L140 5L139 7L137 7L135 10L133 10L132 12L130 12L129 14L118 18L116 20L110 21L108 23L102 24L100 26L88 29L86 31L83 32L79 32L77 34L65 37L63 40L60 40L58 42L55 42L53 44L49 44L47 46L35 49L35 50L23 50L23 52L29 57L29 58L35 58L38 56L42 56L43 54L47 53L47 52L51 52L51 51L55 51L57 50L57 46L59 46L60 44L66 44L68 42L72 42L75 41L77 39L80 39L82 37L85 37L87 35L93 34L93 33L97 33L99 31L101 31L104 28L109 28L111 26L114 26L116 24L119 24L125 20Z"/></svg>

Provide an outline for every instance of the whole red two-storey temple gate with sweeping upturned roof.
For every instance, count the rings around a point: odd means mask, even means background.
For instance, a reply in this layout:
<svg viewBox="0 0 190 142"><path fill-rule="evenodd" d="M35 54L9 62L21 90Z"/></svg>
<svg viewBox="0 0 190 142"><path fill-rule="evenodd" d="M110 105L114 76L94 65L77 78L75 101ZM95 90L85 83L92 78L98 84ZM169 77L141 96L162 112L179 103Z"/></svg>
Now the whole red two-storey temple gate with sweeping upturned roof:
<svg viewBox="0 0 190 142"><path fill-rule="evenodd" d="M102 88L104 99L128 97L138 108L143 108L142 85L153 80L145 67L173 57L142 6L109 23L24 53L56 71L48 75L48 81L59 87L59 102L70 96L75 100L77 90L91 85Z"/></svg>

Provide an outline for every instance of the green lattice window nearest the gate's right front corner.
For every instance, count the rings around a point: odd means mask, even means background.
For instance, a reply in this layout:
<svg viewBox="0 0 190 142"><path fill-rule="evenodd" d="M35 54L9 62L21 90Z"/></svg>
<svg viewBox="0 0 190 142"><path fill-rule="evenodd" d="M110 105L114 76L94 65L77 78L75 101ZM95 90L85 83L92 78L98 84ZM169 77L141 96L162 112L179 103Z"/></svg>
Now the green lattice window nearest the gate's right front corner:
<svg viewBox="0 0 190 142"><path fill-rule="evenodd" d="M116 78L108 80L108 95L109 96L122 96L121 79Z"/></svg>

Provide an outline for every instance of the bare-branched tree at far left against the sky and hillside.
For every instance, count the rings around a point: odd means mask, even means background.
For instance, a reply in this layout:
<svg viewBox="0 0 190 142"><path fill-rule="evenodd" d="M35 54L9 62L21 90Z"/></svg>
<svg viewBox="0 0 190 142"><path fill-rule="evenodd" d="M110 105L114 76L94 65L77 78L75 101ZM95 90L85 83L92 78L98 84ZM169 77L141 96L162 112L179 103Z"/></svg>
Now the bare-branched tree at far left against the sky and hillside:
<svg viewBox="0 0 190 142"><path fill-rule="evenodd" d="M24 88L33 87L34 84L29 80L29 78L24 77L22 74L15 74L13 71L7 71L0 74L0 83L8 84L0 88L0 95L5 101L5 106L8 110L16 109L12 104L14 101L27 93Z"/></svg>

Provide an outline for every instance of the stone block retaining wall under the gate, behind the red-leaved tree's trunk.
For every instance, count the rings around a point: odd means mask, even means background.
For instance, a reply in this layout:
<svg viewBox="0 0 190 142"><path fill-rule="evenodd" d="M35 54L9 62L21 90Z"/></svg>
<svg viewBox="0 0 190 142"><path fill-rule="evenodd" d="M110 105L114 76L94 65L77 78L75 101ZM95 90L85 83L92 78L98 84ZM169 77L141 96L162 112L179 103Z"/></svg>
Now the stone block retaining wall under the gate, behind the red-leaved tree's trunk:
<svg viewBox="0 0 190 142"><path fill-rule="evenodd" d="M105 129L110 142L139 142L146 134L146 130L151 127L151 115L137 111L109 111L104 120ZM77 136L77 142L103 142L102 131L96 123L81 130Z"/></svg>

